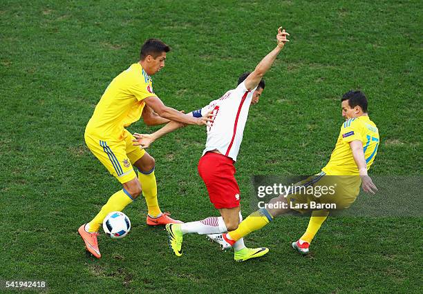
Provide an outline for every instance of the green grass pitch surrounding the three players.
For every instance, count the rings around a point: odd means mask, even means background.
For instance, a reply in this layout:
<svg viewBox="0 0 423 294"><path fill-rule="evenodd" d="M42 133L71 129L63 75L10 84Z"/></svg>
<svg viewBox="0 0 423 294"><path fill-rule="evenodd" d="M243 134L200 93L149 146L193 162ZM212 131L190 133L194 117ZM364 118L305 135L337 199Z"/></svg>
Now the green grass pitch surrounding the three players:
<svg viewBox="0 0 423 294"><path fill-rule="evenodd" d="M239 264L198 235L176 258L139 199L125 210L128 237L101 235L100 260L84 253L77 228L120 189L86 148L84 128L149 37L173 48L153 77L156 93L189 111L234 88L279 26L290 32L245 128L236 164L244 216L252 175L326 164L339 97L352 88L366 93L381 133L370 174L422 174L422 1L134 2L1 1L0 280L44 280L52 293L422 291L421 217L328 219L308 258L290 248L308 219L283 217L246 239L270 253ZM204 143L204 130L187 127L149 149L162 209L178 219L216 215L196 171Z"/></svg>

